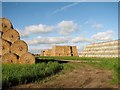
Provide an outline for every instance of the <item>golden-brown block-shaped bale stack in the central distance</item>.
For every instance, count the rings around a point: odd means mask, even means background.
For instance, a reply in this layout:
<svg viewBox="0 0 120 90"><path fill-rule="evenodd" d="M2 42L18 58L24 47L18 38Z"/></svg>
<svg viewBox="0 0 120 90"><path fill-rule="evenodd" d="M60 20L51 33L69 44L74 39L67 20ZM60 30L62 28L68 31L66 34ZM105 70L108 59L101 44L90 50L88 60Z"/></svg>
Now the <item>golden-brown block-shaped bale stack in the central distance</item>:
<svg viewBox="0 0 120 90"><path fill-rule="evenodd" d="M42 51L41 56L78 56L78 51L76 46L54 46Z"/></svg>

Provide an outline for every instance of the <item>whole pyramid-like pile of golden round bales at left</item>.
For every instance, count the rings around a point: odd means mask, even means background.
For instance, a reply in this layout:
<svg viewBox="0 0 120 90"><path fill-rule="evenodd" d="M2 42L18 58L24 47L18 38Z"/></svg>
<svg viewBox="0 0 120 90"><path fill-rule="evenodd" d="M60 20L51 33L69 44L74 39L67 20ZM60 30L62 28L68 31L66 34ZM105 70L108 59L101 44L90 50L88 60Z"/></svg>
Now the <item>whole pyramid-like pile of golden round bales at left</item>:
<svg viewBox="0 0 120 90"><path fill-rule="evenodd" d="M0 61L2 63L33 64L35 57L28 52L25 41L20 40L10 20L0 18Z"/></svg>

